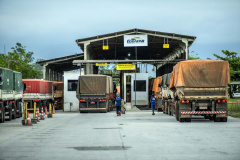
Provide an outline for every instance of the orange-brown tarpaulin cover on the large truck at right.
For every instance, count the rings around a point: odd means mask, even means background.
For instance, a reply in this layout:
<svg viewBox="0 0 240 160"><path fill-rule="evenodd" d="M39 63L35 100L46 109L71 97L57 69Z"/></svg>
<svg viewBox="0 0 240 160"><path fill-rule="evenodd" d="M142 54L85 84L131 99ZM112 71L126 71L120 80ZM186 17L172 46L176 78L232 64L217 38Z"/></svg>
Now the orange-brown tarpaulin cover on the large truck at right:
<svg viewBox="0 0 240 160"><path fill-rule="evenodd" d="M170 89L177 87L224 87L230 83L228 61L188 60L173 68Z"/></svg>

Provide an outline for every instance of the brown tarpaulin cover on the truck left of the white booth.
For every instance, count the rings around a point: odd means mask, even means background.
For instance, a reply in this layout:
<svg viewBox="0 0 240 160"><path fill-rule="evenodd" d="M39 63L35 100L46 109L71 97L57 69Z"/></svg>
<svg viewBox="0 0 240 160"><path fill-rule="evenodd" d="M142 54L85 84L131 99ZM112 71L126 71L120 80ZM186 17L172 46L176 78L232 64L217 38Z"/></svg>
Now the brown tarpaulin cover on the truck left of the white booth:
<svg viewBox="0 0 240 160"><path fill-rule="evenodd" d="M107 76L105 75L84 75L79 77L80 93L96 94L108 93Z"/></svg>

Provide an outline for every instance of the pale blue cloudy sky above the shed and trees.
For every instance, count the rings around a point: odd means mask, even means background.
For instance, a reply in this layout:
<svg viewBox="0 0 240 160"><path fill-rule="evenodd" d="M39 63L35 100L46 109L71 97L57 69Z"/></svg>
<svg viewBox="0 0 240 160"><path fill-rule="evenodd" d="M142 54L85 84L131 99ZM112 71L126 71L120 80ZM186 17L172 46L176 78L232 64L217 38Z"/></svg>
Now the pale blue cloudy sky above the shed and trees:
<svg viewBox="0 0 240 160"><path fill-rule="evenodd" d="M20 42L35 59L82 53L76 39L133 28L196 36L190 52L202 59L240 53L239 0L0 0L0 23L0 53Z"/></svg>

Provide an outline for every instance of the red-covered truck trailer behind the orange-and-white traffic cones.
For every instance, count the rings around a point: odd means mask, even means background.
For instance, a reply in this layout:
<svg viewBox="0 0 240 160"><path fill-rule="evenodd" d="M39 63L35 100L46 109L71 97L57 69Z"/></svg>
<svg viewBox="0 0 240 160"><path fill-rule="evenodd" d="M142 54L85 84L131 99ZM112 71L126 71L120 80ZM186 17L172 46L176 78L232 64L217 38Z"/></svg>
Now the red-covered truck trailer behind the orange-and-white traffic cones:
<svg viewBox="0 0 240 160"><path fill-rule="evenodd" d="M41 79L23 79L26 84L26 91L23 94L23 99L28 102L29 110L33 110L33 102L36 102L36 107L48 106L53 103L54 92L53 82Z"/></svg>

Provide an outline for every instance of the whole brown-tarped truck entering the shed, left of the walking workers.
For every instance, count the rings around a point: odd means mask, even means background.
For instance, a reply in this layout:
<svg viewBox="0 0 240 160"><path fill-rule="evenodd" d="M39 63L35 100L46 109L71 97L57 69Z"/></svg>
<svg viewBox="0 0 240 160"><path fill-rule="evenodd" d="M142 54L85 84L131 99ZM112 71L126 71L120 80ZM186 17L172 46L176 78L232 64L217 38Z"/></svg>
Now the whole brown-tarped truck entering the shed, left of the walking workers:
<svg viewBox="0 0 240 160"><path fill-rule="evenodd" d="M109 112L113 108L112 77L98 74L79 76L76 97L80 113Z"/></svg>

